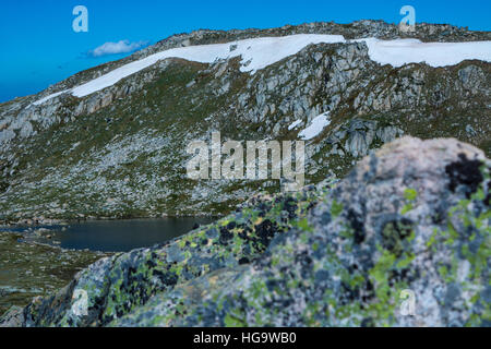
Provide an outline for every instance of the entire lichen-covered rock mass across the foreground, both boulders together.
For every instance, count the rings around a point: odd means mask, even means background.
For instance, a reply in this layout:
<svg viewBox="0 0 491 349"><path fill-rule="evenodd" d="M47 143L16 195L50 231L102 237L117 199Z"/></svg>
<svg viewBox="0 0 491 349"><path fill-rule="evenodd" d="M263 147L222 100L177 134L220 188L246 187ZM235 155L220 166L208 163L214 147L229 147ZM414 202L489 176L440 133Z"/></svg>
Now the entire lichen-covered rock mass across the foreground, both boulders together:
<svg viewBox="0 0 491 349"><path fill-rule="evenodd" d="M490 170L471 145L404 137L339 182L255 196L180 239L100 260L0 324L490 326Z"/></svg>

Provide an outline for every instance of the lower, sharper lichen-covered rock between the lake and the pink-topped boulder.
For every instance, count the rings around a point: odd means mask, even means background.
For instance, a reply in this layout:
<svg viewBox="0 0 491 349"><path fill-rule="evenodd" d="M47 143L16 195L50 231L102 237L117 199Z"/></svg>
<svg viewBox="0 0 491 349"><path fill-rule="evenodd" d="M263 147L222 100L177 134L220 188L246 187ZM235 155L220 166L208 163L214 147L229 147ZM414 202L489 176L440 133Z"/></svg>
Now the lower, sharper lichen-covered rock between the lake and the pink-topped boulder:
<svg viewBox="0 0 491 349"><path fill-rule="evenodd" d="M152 249L103 258L50 298L25 308L25 326L103 326L159 292L225 267L250 264L275 236L296 227L320 200L314 186L295 195L256 195L215 224ZM87 312L76 311L80 294Z"/></svg>

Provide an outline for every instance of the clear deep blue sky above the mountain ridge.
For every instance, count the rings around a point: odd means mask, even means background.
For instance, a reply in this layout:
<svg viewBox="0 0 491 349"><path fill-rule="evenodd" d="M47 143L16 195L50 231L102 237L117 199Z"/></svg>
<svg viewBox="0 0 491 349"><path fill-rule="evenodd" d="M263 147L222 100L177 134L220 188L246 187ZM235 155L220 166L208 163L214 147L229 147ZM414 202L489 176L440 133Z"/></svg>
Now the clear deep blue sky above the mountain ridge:
<svg viewBox="0 0 491 349"><path fill-rule="evenodd" d="M72 11L79 4L88 10L87 33L72 29ZM199 28L362 19L398 23L405 4L416 9L416 22L491 29L489 0L1 0L0 101L40 92L81 70L129 55L87 55L105 43L154 44Z"/></svg>

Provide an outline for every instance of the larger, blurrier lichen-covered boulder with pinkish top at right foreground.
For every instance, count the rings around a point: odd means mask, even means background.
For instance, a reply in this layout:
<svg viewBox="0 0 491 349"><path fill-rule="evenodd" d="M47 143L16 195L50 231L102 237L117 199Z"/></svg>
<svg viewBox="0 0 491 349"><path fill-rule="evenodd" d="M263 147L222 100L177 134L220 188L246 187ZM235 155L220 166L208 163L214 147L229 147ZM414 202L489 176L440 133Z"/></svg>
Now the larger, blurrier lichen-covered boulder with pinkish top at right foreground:
<svg viewBox="0 0 491 349"><path fill-rule="evenodd" d="M489 326L489 171L456 141L395 142L252 265L179 285L111 325Z"/></svg>

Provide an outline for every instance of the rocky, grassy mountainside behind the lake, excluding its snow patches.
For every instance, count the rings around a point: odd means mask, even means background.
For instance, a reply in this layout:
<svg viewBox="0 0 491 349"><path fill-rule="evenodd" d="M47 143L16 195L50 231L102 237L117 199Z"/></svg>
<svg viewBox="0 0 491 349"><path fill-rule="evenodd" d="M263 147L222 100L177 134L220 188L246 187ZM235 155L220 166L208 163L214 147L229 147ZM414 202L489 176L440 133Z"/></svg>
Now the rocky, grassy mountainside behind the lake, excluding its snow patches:
<svg viewBox="0 0 491 349"><path fill-rule="evenodd" d="M33 105L165 49L304 33L491 39L490 33L450 25L418 24L415 33L402 33L376 21L172 36L0 105L0 220L226 214L261 190L278 191L279 183L190 181L187 144L209 140L214 130L224 140L294 140L324 112L330 125L307 145L310 183L345 174L369 149L403 134L454 136L490 155L489 62L381 65L366 43L310 45L255 74L241 72L239 58L170 58L88 96L62 94Z"/></svg>

